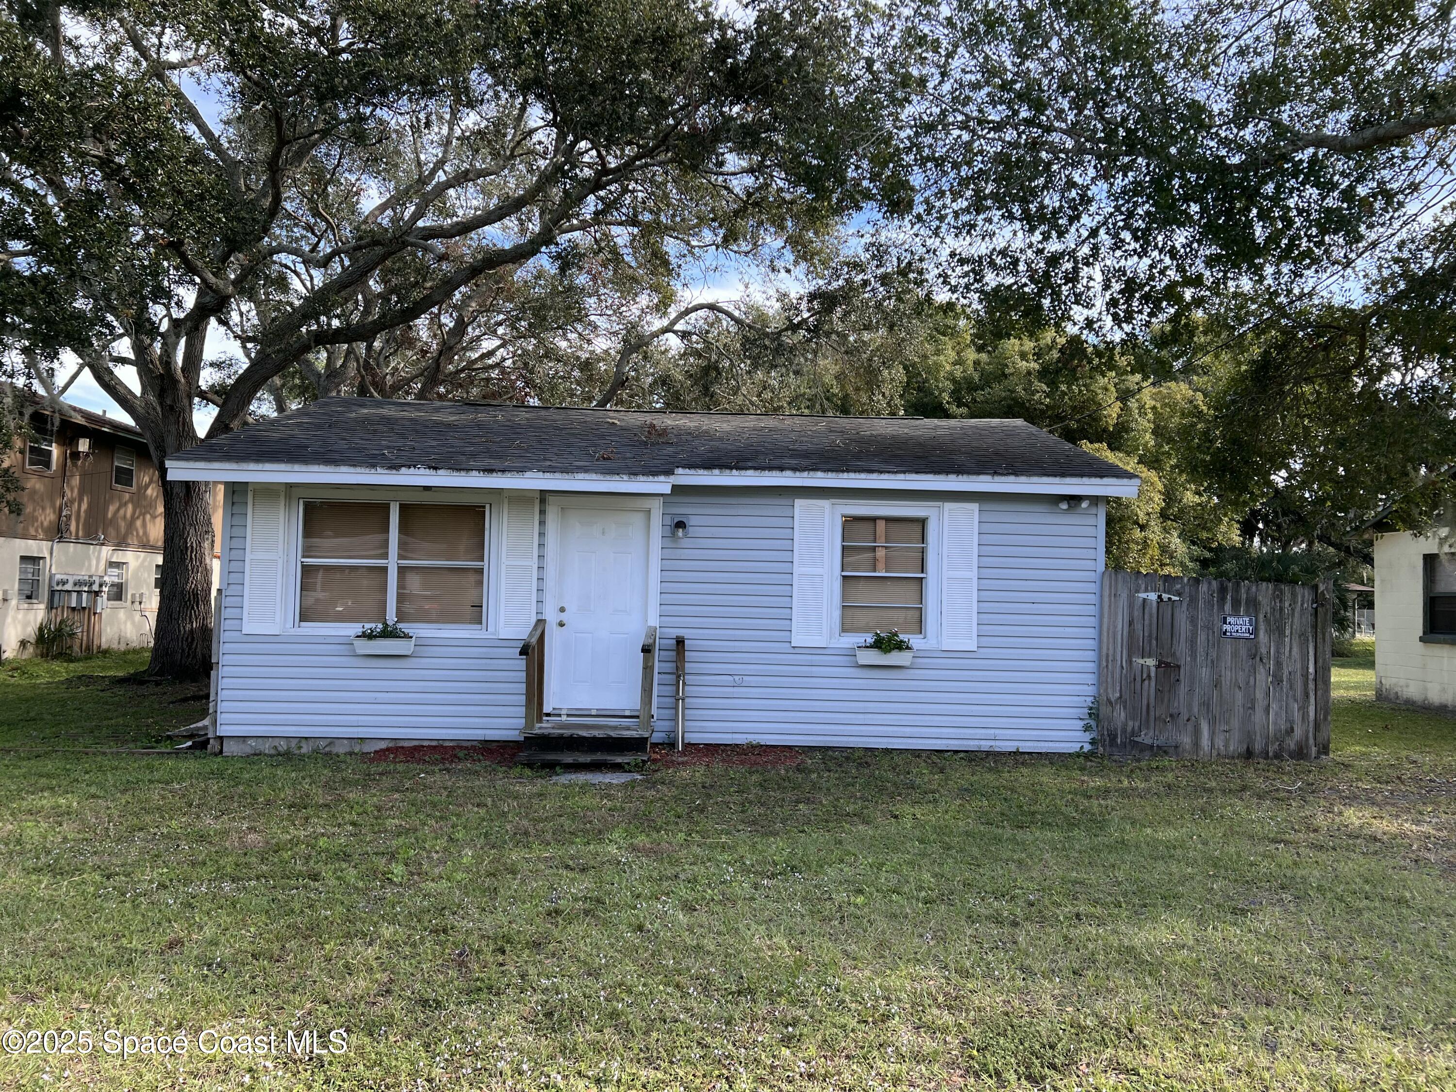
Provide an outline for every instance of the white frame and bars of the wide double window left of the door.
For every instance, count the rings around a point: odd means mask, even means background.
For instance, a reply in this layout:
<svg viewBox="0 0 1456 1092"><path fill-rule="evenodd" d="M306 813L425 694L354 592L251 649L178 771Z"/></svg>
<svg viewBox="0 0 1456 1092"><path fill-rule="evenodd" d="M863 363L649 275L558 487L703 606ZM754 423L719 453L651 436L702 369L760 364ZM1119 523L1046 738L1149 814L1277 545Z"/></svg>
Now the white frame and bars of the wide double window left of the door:
<svg viewBox="0 0 1456 1092"><path fill-rule="evenodd" d="M400 504L459 504L469 508L485 508L485 587L483 603L480 606L479 626L435 626L422 622L402 623L411 633L453 638L491 638L496 636L498 612L492 609L491 597L499 579L501 569L501 499L498 491L476 489L438 489L425 492L412 489L402 495L399 489L377 489L370 486L317 489L298 488L290 491L287 504L287 577L284 582L284 625L285 633L357 633L365 622L300 622L301 609L300 587L303 579L303 505L309 501L357 501L360 504L389 504L389 562L377 558L349 561L347 558L328 558L322 563L328 565L387 565L389 575L384 584L384 612L395 617L395 597L399 587L399 505ZM310 565L320 562L309 562ZM425 565L435 568L463 568L462 562L414 562L405 565Z"/></svg>

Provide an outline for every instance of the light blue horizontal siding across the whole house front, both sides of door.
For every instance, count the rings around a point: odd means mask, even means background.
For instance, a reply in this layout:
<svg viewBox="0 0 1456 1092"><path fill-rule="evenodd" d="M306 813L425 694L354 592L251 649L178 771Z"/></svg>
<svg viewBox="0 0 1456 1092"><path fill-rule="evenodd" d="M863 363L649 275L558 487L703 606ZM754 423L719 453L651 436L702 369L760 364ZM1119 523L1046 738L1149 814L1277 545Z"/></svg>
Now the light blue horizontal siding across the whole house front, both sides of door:
<svg viewBox="0 0 1456 1092"><path fill-rule="evenodd" d="M256 489L266 486L253 486ZM448 491L437 491L432 495ZM521 494L520 623L545 579L542 513ZM357 657L347 636L242 632L248 488L233 486L224 552L220 732L333 738L514 740L523 713L518 638L425 633L411 657ZM820 594L818 644L801 644L796 591L810 556L795 524L804 504L823 529L830 574L834 504L888 511L885 491L815 501L802 489L683 486L664 498L657 728L671 731L673 638L687 639L692 743L1066 751L1086 744L1096 687L1099 508L1061 511L1054 496L925 494L939 513L927 591L938 641L916 641L910 667L860 667L855 639L830 641ZM505 523L502 515L498 523ZM673 520L689 533L673 539ZM492 534L498 561L507 529ZM812 555L812 550L808 552ZM527 578L529 574L529 578ZM502 598L496 588L495 603ZM958 620L952 620L955 606ZM970 612L967 616L967 610ZM527 626L529 628L529 626ZM807 629L812 630L812 626ZM549 639L549 638L547 638ZM952 642L971 648L954 648Z"/></svg>

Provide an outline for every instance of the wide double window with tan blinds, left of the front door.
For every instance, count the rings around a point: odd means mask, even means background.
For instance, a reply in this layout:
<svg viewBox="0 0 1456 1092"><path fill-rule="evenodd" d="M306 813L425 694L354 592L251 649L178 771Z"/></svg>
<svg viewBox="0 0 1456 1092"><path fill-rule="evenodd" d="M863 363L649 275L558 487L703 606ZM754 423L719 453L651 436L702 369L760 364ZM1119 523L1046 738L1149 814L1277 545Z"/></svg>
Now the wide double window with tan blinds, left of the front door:
<svg viewBox="0 0 1456 1092"><path fill-rule="evenodd" d="M298 622L485 623L485 505L304 501Z"/></svg>

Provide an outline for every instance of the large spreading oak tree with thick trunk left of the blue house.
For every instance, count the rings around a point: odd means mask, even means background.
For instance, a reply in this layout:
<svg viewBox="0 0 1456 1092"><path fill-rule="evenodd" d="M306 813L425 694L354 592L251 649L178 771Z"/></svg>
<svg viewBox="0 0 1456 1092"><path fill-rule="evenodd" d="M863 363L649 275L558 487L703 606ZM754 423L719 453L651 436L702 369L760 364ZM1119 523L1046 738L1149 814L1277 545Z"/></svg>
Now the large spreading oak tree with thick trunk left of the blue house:
<svg viewBox="0 0 1456 1092"><path fill-rule="evenodd" d="M887 140L855 42L812 0L9 0L0 338L80 360L163 473L199 399L215 435L287 383L457 392L542 281L667 301L855 208ZM163 495L151 670L194 674L210 488Z"/></svg>

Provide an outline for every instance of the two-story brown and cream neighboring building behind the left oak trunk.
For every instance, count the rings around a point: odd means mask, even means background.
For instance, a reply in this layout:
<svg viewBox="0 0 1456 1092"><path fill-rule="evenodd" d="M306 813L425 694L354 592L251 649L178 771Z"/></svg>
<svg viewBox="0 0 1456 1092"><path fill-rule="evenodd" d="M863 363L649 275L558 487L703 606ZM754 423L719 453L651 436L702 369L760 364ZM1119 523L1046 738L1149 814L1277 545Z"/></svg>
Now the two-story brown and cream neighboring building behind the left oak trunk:
<svg viewBox="0 0 1456 1092"><path fill-rule="evenodd" d="M141 432L64 403L38 408L31 422L35 435L3 456L20 476L25 510L0 511L0 654L23 654L47 617L76 622L80 652L150 645L162 482ZM214 536L221 511L215 491Z"/></svg>

